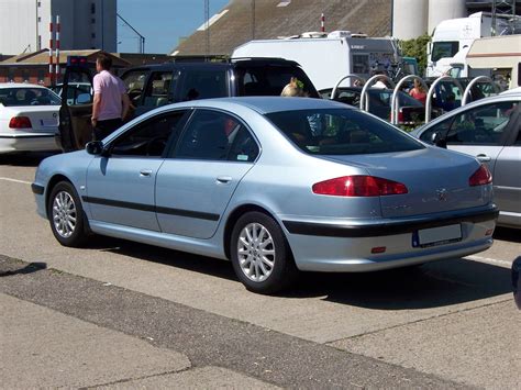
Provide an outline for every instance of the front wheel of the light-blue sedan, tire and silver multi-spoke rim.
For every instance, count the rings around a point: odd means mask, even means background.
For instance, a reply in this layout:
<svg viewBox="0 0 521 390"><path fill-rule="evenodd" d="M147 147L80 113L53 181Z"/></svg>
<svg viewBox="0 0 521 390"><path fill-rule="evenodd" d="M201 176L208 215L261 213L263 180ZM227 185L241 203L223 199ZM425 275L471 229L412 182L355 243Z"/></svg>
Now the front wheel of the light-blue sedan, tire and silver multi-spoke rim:
<svg viewBox="0 0 521 390"><path fill-rule="evenodd" d="M47 216L56 239L64 246L80 247L87 241L84 208L74 186L58 182L48 197Z"/></svg>

